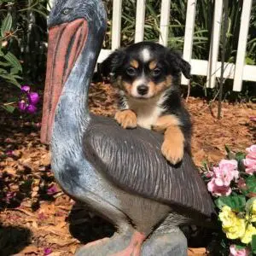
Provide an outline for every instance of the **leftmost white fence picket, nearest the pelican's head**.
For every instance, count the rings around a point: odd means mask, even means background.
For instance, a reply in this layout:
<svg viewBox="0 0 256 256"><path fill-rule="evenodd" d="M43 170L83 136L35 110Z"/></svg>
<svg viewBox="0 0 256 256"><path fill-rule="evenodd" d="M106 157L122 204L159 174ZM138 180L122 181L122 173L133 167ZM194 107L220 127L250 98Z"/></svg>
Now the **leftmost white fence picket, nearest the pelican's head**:
<svg viewBox="0 0 256 256"><path fill-rule="evenodd" d="M112 16L112 44L111 49L118 49L121 41L121 18L122 18L122 0L113 0Z"/></svg>

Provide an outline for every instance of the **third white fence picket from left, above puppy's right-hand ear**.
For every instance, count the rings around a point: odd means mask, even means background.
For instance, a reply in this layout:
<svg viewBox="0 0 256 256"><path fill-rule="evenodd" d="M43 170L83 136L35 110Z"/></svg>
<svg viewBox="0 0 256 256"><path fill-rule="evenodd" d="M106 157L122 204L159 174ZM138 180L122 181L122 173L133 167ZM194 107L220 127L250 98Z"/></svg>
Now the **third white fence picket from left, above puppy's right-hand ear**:
<svg viewBox="0 0 256 256"><path fill-rule="evenodd" d="M167 46L168 44L170 9L171 9L171 0L162 0L159 43L165 46Z"/></svg>

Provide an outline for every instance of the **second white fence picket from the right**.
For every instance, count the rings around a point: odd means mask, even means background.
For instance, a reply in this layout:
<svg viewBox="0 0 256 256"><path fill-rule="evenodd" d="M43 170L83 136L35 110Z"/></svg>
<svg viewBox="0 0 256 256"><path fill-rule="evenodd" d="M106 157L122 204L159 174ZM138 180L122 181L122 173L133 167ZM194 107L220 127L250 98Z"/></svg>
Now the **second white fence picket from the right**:
<svg viewBox="0 0 256 256"><path fill-rule="evenodd" d="M226 0L224 0L226 1ZM216 67L218 61L218 46L220 29L222 23L223 0L216 0L214 5L214 16L212 24L212 38L207 68L207 87L213 88L216 82Z"/></svg>

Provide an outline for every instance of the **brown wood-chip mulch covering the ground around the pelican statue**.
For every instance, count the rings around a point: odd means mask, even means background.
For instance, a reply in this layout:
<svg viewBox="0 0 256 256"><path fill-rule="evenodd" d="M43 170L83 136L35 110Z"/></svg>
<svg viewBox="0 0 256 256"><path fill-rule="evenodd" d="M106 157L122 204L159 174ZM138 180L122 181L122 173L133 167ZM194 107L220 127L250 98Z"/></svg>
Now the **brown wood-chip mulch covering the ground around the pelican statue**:
<svg viewBox="0 0 256 256"><path fill-rule="evenodd" d="M113 116L114 97L108 84L92 86L90 110ZM256 143L256 123L249 119L256 116L256 104L224 103L219 120L215 102L209 106L189 97L186 105L194 123L192 151L197 166L204 161L217 164L225 156L224 145L244 151ZM81 242L111 236L113 227L74 203L55 184L48 147L39 142L40 114L34 123L0 114L0 255L73 255Z"/></svg>

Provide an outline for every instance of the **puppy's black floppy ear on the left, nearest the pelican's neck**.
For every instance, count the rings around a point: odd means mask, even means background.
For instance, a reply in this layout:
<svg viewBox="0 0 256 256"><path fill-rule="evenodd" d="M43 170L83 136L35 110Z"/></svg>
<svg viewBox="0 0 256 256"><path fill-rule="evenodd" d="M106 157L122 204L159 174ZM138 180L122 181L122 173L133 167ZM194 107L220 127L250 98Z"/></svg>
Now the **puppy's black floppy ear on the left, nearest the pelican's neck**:
<svg viewBox="0 0 256 256"><path fill-rule="evenodd" d="M116 49L105 61L99 65L99 72L103 77L116 76L125 60L125 51Z"/></svg>

